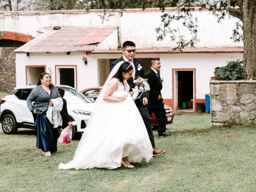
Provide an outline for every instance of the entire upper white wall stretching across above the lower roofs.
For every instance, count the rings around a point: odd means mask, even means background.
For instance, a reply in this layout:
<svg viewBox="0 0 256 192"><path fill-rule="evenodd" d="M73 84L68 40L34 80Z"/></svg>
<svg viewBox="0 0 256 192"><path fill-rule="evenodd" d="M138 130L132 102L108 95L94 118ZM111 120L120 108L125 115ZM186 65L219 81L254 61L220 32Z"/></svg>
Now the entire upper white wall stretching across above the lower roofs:
<svg viewBox="0 0 256 192"><path fill-rule="evenodd" d="M42 28L52 29L53 26L61 27L84 27L84 28L119 28L120 44L126 40L132 40L137 47L174 47L175 42L171 42L168 36L162 41L156 40L155 29L160 26L160 11L138 11L124 12L120 16L119 12L112 12L114 16L109 17L109 21L102 23L99 15L103 13L90 12L87 14L36 14L36 15L15 15L11 12L3 14L0 12L0 31L20 32L23 34L38 36L38 30ZM236 18L226 18L218 23L215 16L208 11L196 11L198 16L198 38L200 42L196 47L222 47L222 46L243 46L243 43L234 43L230 40L232 29L237 22ZM176 22L171 24L178 28ZM186 38L190 36L188 30L180 26L181 33ZM104 47L104 48L109 48ZM116 49L117 47L115 47ZM112 49L112 47L111 47Z"/></svg>

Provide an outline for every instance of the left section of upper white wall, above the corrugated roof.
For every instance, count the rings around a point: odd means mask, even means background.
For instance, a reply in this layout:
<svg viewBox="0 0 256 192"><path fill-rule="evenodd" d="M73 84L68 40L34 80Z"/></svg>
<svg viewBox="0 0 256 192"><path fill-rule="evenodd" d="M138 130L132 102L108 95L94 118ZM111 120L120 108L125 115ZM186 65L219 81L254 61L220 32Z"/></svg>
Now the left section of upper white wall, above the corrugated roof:
<svg viewBox="0 0 256 192"><path fill-rule="evenodd" d="M52 30L54 26L61 27L84 27L84 28L112 28L119 26L119 14L109 18L108 22L102 24L98 16L100 13L88 14L1 14L0 31L19 32L33 37L40 35L38 31L42 28Z"/></svg>

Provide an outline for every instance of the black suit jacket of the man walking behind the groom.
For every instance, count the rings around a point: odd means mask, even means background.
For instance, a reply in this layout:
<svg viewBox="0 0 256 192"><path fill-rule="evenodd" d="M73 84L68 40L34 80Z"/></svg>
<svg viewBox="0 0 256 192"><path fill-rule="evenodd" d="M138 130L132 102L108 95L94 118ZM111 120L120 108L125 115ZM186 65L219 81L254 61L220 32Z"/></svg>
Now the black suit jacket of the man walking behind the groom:
<svg viewBox="0 0 256 192"><path fill-rule="evenodd" d="M162 85L152 69L147 72L146 77L150 86L148 108L158 108L160 105L163 105L163 99L158 100L159 95L161 95Z"/></svg>

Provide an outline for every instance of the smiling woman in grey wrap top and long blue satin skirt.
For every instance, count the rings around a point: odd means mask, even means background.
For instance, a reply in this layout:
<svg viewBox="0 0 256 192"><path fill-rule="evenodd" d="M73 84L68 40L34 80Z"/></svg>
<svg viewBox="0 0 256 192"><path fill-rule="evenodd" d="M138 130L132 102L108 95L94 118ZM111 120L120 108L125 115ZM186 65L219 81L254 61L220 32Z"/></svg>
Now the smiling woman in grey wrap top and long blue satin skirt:
<svg viewBox="0 0 256 192"><path fill-rule="evenodd" d="M36 146L45 156L51 156L57 151L58 129L53 128L46 117L46 111L49 106L53 106L50 100L58 97L61 96L52 84L50 74L43 72L39 76L38 85L27 98L27 105L36 126Z"/></svg>

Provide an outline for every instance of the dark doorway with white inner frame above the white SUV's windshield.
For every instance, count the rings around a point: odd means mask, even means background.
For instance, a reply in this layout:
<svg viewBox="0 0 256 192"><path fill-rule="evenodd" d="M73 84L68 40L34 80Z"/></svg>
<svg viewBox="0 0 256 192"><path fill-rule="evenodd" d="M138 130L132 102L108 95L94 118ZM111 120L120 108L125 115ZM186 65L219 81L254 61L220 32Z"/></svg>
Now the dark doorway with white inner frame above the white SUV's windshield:
<svg viewBox="0 0 256 192"><path fill-rule="evenodd" d="M56 70L58 74L56 84L77 88L76 66L56 66Z"/></svg>

